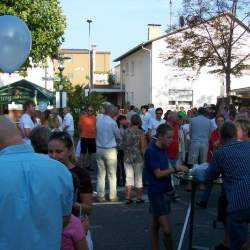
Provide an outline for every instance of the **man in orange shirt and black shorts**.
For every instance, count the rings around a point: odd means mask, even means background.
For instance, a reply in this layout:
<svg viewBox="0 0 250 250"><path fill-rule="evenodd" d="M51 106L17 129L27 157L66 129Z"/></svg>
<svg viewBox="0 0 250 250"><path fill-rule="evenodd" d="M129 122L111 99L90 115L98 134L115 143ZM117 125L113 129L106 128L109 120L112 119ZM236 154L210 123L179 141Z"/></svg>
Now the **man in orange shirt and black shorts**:
<svg viewBox="0 0 250 250"><path fill-rule="evenodd" d="M80 116L78 125L81 138L80 166L91 170L87 164L91 163L91 155L96 153L96 117L92 106L88 107L87 113Z"/></svg>

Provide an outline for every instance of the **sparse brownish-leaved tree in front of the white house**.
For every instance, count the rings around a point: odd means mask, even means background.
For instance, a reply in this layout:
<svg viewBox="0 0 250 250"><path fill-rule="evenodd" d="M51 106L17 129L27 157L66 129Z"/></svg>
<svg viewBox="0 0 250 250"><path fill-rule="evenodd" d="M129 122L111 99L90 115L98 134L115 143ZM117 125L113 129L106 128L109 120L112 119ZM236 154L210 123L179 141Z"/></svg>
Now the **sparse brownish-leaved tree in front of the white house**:
<svg viewBox="0 0 250 250"><path fill-rule="evenodd" d="M230 102L232 75L249 69L250 52L241 49L250 38L249 4L244 0L184 0L183 6L189 27L167 37L171 52L163 58L175 58L179 67L193 67L197 72L207 66L211 73L224 74Z"/></svg>

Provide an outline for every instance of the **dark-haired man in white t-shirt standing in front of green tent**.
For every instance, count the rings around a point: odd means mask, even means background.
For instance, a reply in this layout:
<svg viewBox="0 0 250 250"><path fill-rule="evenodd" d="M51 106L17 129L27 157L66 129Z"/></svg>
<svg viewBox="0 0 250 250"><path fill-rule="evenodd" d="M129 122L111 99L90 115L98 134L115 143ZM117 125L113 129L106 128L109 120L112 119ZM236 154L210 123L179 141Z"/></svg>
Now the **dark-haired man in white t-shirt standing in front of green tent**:
<svg viewBox="0 0 250 250"><path fill-rule="evenodd" d="M31 144L29 136L31 130L35 127L35 124L32 120L32 117L35 115L36 105L32 100L26 101L23 105L24 113L22 114L19 120L19 129L21 131L21 135L23 137L23 141L26 144Z"/></svg>

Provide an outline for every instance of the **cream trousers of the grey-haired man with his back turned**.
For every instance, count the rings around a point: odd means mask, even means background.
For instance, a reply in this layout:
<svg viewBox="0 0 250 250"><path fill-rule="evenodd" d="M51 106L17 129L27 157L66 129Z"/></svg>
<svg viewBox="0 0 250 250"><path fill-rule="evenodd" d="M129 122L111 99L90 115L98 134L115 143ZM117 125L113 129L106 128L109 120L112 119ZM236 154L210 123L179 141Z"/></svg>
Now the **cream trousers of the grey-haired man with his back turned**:
<svg viewBox="0 0 250 250"><path fill-rule="evenodd" d="M116 169L117 169L117 150L116 148L97 148L96 161L98 166L97 174L97 196L105 197L105 177L106 172L109 182L109 199L117 198L116 191Z"/></svg>

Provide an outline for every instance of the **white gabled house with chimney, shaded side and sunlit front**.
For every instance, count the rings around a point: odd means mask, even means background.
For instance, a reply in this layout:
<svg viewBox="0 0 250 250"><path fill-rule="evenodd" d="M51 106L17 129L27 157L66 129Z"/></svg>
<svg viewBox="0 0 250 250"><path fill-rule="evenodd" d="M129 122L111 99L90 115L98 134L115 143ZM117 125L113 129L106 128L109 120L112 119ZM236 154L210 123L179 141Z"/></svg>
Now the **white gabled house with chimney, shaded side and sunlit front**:
<svg viewBox="0 0 250 250"><path fill-rule="evenodd" d="M151 32L151 26L148 31ZM166 38L178 36L189 27L180 28L172 33L159 36L153 26L148 40L121 55L115 62L120 62L121 82L125 85L126 101L140 107L154 103L164 110L175 109L179 106L186 108L215 104L217 97L225 95L224 76L210 73L211 68L201 68L199 74L192 68L179 68L176 59L164 60L164 54L170 53ZM238 25L239 34L244 31ZM248 54L250 50L250 33L246 32L245 43L241 41L239 53ZM158 34L154 37L154 34ZM248 52L247 52L248 51ZM248 60L250 64L250 61ZM245 71L242 76L232 77L231 89L250 86L250 72Z"/></svg>

